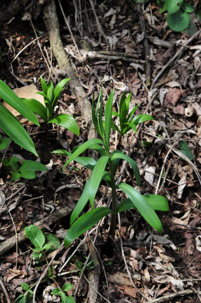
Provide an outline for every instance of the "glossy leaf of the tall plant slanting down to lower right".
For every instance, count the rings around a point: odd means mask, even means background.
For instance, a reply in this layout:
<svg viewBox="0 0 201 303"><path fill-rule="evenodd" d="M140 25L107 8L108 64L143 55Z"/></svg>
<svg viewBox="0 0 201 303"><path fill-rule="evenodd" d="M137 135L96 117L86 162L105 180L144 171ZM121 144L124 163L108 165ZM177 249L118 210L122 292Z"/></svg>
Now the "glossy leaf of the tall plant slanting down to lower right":
<svg viewBox="0 0 201 303"><path fill-rule="evenodd" d="M125 191L143 218L158 232L162 233L162 224L147 200L137 190L126 183L121 183L118 187Z"/></svg>

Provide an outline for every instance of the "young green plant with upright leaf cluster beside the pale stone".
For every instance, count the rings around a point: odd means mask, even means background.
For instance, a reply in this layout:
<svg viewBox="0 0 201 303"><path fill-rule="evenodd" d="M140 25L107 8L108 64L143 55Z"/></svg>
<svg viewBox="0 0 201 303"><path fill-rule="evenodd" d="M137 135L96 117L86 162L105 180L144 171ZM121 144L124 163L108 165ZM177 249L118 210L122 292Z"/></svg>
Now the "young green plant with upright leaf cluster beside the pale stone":
<svg viewBox="0 0 201 303"><path fill-rule="evenodd" d="M45 139L44 139L45 144L47 144L48 130L50 123L61 125L69 129L77 136L80 133L77 122L72 116L68 114L59 114L52 117L54 113L54 108L57 104L61 91L64 88L64 85L66 85L66 83L69 80L70 78L61 80L54 88L52 81L50 81L49 85L47 85L45 80L41 77L42 92L36 92L36 94L42 95L44 97L45 106L42 105L36 99L22 98L22 100L31 108L31 110L36 114L38 114L44 120L44 122L47 123L46 131L45 131Z"/></svg>

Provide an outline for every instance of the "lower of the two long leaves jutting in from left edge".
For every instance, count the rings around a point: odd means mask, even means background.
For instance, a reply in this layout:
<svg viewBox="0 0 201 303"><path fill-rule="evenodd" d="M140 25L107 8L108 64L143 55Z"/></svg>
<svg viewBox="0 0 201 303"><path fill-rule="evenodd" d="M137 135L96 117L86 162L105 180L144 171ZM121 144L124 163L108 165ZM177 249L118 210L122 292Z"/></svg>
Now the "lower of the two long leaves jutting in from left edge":
<svg viewBox="0 0 201 303"><path fill-rule="evenodd" d="M27 106L27 105L26 105ZM30 110L31 111L31 110ZM19 146L31 151L35 156L38 154L35 150L34 143L21 123L14 117L11 112L0 102L0 128ZM37 123L38 124L38 123Z"/></svg>

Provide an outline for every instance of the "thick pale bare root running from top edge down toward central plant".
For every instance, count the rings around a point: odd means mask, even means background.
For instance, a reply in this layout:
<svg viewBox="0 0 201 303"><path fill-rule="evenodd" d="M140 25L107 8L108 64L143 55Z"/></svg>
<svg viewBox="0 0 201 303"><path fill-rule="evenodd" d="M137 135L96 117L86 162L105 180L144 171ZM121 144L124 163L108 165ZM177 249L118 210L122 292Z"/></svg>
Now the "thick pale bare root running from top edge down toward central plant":
<svg viewBox="0 0 201 303"><path fill-rule="evenodd" d="M58 65L62 70L66 71L67 77L71 78L68 84L77 98L81 115L87 124L88 139L96 138L96 132L92 123L91 103L89 102L83 87L80 85L80 82L71 67L71 63L67 58L66 52L64 51L59 33L59 22L54 0L48 0L44 5L43 18L48 29L52 51L57 59Z"/></svg>

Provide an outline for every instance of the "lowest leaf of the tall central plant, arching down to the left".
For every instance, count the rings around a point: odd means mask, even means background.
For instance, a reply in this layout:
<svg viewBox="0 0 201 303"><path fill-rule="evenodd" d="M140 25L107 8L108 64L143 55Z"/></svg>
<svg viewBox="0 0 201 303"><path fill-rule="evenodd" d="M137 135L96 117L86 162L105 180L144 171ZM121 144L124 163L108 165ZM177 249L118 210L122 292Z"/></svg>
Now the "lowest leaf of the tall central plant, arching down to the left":
<svg viewBox="0 0 201 303"><path fill-rule="evenodd" d="M64 238L65 247L68 248L72 241L94 226L99 220L111 213L113 212L107 207L97 207L87 211L87 213L78 218L67 231Z"/></svg>

